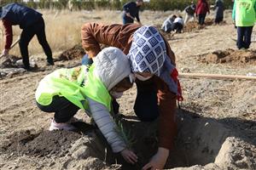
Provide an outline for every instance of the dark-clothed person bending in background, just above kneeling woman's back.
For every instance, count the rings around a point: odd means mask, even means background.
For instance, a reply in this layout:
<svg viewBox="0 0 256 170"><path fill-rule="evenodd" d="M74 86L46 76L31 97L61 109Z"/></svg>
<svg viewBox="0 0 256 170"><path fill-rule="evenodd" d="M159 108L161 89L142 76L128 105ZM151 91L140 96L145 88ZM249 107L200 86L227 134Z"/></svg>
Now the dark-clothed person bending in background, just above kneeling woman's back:
<svg viewBox="0 0 256 170"><path fill-rule="evenodd" d="M123 6L123 24L133 23L134 20L137 20L138 24L141 24L139 17L140 7L143 6L143 0L137 0L135 2L125 3Z"/></svg>

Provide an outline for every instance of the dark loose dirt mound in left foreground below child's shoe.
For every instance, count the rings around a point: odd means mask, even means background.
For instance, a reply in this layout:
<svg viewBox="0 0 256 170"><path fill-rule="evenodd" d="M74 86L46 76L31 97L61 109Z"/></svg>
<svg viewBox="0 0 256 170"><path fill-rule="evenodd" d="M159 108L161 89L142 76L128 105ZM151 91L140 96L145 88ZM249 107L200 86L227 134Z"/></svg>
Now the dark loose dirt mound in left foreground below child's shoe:
<svg viewBox="0 0 256 170"><path fill-rule="evenodd" d="M67 153L68 147L73 141L79 139L79 133L67 131L21 131L11 135L8 142L1 146L7 153L26 154L32 156L62 155Z"/></svg>

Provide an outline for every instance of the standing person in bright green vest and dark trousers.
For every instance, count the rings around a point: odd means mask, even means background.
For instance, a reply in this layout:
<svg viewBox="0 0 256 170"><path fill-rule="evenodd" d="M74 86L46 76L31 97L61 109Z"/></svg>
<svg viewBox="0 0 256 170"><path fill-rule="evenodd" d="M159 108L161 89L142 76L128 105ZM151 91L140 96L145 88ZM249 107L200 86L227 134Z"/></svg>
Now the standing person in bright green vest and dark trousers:
<svg viewBox="0 0 256 170"><path fill-rule="evenodd" d="M255 19L256 0L234 1L232 20L237 26L236 46L238 49L250 47Z"/></svg>

